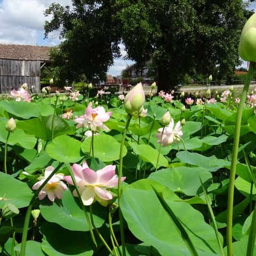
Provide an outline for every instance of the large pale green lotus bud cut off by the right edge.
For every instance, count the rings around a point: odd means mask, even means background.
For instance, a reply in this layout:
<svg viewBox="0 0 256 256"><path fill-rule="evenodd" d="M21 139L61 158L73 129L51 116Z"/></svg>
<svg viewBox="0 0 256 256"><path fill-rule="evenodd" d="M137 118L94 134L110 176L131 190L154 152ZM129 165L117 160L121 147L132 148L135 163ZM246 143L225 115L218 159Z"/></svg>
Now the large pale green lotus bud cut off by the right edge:
<svg viewBox="0 0 256 256"><path fill-rule="evenodd" d="M256 13L244 25L238 44L238 53L241 59L256 62Z"/></svg>

